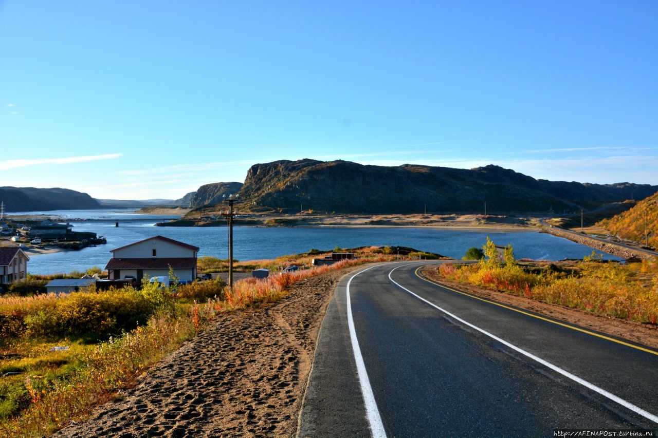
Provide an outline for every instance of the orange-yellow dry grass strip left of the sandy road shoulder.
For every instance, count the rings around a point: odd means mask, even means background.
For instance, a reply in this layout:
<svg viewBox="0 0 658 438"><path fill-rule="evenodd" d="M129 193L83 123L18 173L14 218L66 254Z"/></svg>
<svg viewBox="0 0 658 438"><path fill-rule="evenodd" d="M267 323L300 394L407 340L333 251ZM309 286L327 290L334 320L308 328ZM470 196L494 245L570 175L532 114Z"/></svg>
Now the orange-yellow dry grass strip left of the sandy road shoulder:
<svg viewBox="0 0 658 438"><path fill-rule="evenodd" d="M4 418L0 417L0 433L16 437L48 435L70 420L84 418L95 404L113 399L122 389L134 385L139 374L166 354L178 349L184 340L203 330L218 312L277 301L286 295L286 288L295 281L328 270L393 258L392 255L376 251L364 251L359 260L343 260L330 266L282 272L265 280L249 278L237 281L232 290L226 287L218 289L218 283L215 282L205 282L205 285L195 283L187 289L181 286L177 290L167 291L176 303L174 307L170 306L170 302L160 300L156 289L149 289L145 296L163 302L160 303L161 310L151 316L146 324L97 345L72 344L68 351L56 352L59 366L45 360L55 357L49 351L52 343L39 342L38 339L5 340L3 356L0 356L4 357L0 362L2 366L8 366L17 358L30 356L35 363L41 365L20 368L17 378L13 379L13 389L5 388L5 393L0 394L0 397L6 398L14 391L22 397L14 410L8 409ZM306 260L305 257L285 258L274 263L295 263L301 266ZM218 290L220 294L216 297L207 297ZM204 302L194 297L207 299ZM3 306L5 315L18 311L22 314L43 314L49 308L56 308L61 299L55 294L6 298L0 301L0 306ZM191 299L194 299L192 303ZM62 341L69 342L68 339ZM28 348L28 345L32 347ZM45 370L55 372L45 376Z"/></svg>

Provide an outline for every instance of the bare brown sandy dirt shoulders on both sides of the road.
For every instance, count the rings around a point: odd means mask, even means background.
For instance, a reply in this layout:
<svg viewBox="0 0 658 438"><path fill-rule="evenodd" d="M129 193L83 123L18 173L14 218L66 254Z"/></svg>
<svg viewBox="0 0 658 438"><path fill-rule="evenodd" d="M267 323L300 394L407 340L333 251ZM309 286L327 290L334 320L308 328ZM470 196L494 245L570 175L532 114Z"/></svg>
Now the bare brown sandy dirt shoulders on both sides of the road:
<svg viewBox="0 0 658 438"><path fill-rule="evenodd" d="M326 306L354 268L293 285L276 304L222 314L137 385L57 437L290 437ZM658 331L522 297L472 293L658 348Z"/></svg>

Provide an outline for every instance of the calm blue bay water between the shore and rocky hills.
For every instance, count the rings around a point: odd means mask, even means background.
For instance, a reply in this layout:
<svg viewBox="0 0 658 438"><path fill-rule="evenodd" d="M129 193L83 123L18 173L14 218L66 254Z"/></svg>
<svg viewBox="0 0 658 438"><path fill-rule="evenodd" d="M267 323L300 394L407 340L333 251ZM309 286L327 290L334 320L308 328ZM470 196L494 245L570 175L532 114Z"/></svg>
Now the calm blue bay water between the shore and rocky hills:
<svg viewBox="0 0 658 438"><path fill-rule="evenodd" d="M228 228L157 227L156 222L178 216L150 216L136 214L134 210L63 210L59 212L30 212L20 214L46 214L48 217L71 222L74 231L93 231L103 235L107 244L81 251L30 256L30 274L55 274L72 270L84 271L92 266L105 268L113 249L130 245L155 235L163 235L199 247L199 256L228 258ZM9 215L8 215L9 216ZM116 222L119 226L115 226ZM562 260L583 258L592 249L567 239L537 231L460 231L434 228L257 228L234 226L234 258L257 260L281 255L305 253L311 248L332 250L334 247L403 246L461 258L470 247L482 247L489 236L499 246L511 244L517 258L534 260ZM606 259L620 260L613 255Z"/></svg>

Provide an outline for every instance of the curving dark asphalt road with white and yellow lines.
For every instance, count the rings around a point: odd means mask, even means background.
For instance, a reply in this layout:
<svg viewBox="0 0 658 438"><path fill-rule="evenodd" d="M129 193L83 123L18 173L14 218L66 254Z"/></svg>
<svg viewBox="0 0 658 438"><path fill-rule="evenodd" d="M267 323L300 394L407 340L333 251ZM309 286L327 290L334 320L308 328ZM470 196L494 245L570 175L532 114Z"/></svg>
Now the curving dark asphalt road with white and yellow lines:
<svg viewBox="0 0 658 438"><path fill-rule="evenodd" d="M343 278L320 329L299 437L658 428L657 352L441 287L419 266Z"/></svg>

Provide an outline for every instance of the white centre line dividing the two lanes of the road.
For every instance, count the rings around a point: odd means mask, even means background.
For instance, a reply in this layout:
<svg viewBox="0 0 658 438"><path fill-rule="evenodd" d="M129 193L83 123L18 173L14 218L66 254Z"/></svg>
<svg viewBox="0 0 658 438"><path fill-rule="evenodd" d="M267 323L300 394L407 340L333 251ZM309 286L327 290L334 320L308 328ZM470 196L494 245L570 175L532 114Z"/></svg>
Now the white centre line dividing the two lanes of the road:
<svg viewBox="0 0 658 438"><path fill-rule="evenodd" d="M569 379L572 379L573 381L575 381L575 382L577 382L577 383L580 383L580 384L583 385L584 387L587 387L587 388L591 389L592 391L595 391L595 392L597 392L597 393L603 395L603 397L607 397L608 399L610 399L610 400L612 400L612 401L614 401L614 402L617 402L617 403L621 404L622 406L624 406L624 407L626 407L626 408L632 410L633 412L636 412L636 414L640 414L640 415L643 416L644 418L647 418L648 420L651 420L651 421L654 422L654 423L658 423L658 416L655 416L654 414L651 414L651 412L647 412L647 411L645 411L644 409L642 409L642 408L640 408L640 407L638 407L638 406L632 404L631 402L627 402L627 401L625 401L624 399L620 399L620 398L617 397L616 395L611 394L611 393L609 393L608 391L605 391L605 389L599 388L599 387L597 387L596 385L594 385L593 383L590 383L590 382L588 382L588 381L586 381L586 380L584 380L584 379L581 379L581 378L578 377L578 376L574 376L574 374L571 374L570 372L568 372L568 371L566 371L566 370L563 370L563 369L560 368L559 366L553 365L553 364L551 364L551 362L547 362L547 361L545 361L544 359L542 359L542 358L540 358L540 357L538 357L538 356L535 356L535 355L532 354L532 353L528 353L527 351L525 351L525 350L523 350L523 349L520 349L520 348L517 347L516 345L513 345L513 344L511 344L511 343L509 343L509 342L507 342L507 341L504 341L503 339L497 337L496 335L493 335L492 333L489 333L488 331L486 331L486 330L484 330L484 329L481 329L481 328L479 328L479 327L477 327L477 326L474 326L473 324L470 324L470 322L467 322L467 321L465 321L465 320L459 318L459 316L456 316L456 315L454 315L454 314L451 314L451 313L448 312L447 310L445 310L445 309L443 309L443 308L440 308L440 307L437 306L436 304L434 304L434 303L430 303L430 301L427 301L427 300L424 299L423 297L420 297L419 295L413 293L412 291L410 291L409 289L407 289L406 287L404 287L404 286L401 285L400 283L397 283L397 281L393 280L393 278L391 278L391 274L393 274L393 271L396 270L396 269L399 268L399 267L400 267L400 266L397 266L397 267L393 268L392 270L390 270L390 272L388 273L388 280L391 280L393 283L395 283L395 285L397 285L397 286L400 287L401 289L404 289L405 291L407 291L408 293L410 293L411 295L413 295L414 297L416 297L416 298L419 299L420 301L424 301L425 303L430 304L430 306L432 306L432 307L434 307L434 308L440 310L441 312L443 312L443 313L445 313L446 315L450 316L451 318L453 318L453 319L455 319L455 320L461 322L462 324L466 324L468 327L473 328L473 329L476 329L477 331L480 331L480 333L484 333L485 335L487 335L488 337L491 337L492 339L495 339L495 340L498 341L499 343L502 343L503 345L507 345L507 347L513 349L514 351L518 351L519 353L523 354L524 356L527 356L527 357L531 358L532 360L536 360L536 361L539 362L540 364L542 364L542 365L544 365L544 366L547 366L548 368L551 368L551 370L553 370L553 371L555 371L555 372L558 372L559 374L562 374L563 376L568 377Z"/></svg>

